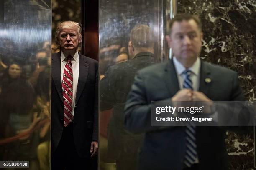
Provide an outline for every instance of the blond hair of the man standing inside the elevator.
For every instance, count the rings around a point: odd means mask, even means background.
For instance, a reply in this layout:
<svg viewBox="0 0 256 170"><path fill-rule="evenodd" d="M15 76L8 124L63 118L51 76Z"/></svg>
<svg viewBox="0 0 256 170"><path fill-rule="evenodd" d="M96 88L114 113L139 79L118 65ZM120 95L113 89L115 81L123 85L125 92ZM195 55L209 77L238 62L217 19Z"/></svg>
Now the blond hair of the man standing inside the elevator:
<svg viewBox="0 0 256 170"><path fill-rule="evenodd" d="M82 27L81 27L81 25L74 21L64 21L56 28L55 38L56 38L57 44L59 44L59 34L60 34L61 30L65 29L65 28L73 28L73 27L77 27L78 37L79 37L79 40L81 40L81 42L82 42Z"/></svg>

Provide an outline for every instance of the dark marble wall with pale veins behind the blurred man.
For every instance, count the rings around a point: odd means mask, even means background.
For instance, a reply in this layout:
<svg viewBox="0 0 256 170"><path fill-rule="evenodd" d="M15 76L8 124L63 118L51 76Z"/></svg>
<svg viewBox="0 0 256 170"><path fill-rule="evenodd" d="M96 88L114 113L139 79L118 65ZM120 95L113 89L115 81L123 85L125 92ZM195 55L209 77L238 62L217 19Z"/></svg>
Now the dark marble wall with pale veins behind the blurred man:
<svg viewBox="0 0 256 170"><path fill-rule="evenodd" d="M238 72L246 98L256 100L256 1L178 0L178 13L199 16L204 33L200 57ZM253 130L243 130L227 132L230 170L254 169Z"/></svg>

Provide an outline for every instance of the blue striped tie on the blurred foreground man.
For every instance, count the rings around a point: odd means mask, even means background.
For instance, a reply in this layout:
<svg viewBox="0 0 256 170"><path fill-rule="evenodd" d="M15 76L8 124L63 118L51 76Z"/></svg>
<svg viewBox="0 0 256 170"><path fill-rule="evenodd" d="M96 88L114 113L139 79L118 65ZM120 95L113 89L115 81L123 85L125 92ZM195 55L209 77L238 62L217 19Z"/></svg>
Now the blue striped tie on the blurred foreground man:
<svg viewBox="0 0 256 170"><path fill-rule="evenodd" d="M192 81L190 79L191 75L190 70L185 70L183 74L185 75L184 83L183 83L183 88L187 89L192 89ZM186 127L186 153L184 157L183 163L187 167L191 167L192 164L195 163L195 160L197 158L197 145L196 145L196 131L195 131L196 126L192 123L189 122L189 124Z"/></svg>

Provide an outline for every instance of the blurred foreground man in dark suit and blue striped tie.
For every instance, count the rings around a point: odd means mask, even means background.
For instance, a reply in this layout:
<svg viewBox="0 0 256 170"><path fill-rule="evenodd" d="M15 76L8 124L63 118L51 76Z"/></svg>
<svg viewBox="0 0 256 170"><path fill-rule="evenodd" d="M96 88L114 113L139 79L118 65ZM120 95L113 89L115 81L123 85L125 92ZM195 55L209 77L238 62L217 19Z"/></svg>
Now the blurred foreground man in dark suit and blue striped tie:
<svg viewBox="0 0 256 170"><path fill-rule="evenodd" d="M146 132L139 169L227 170L225 130L220 127L151 126L151 101L174 105L176 101L243 100L236 72L198 57L202 39L199 19L177 15L169 28L166 40L173 59L140 70L125 105L128 130Z"/></svg>

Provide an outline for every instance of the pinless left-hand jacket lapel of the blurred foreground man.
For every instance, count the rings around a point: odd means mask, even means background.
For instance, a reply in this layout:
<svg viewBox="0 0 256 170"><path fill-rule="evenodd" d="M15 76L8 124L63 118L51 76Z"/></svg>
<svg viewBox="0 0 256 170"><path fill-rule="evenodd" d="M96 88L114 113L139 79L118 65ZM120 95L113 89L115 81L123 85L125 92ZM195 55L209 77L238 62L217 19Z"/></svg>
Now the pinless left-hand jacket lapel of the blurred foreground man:
<svg viewBox="0 0 256 170"><path fill-rule="evenodd" d="M179 82L178 82L177 73L173 64L173 60L170 60L166 64L164 71L166 72L166 74L163 75L163 79L172 97L176 94L177 91L179 91Z"/></svg>

